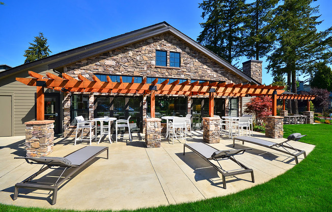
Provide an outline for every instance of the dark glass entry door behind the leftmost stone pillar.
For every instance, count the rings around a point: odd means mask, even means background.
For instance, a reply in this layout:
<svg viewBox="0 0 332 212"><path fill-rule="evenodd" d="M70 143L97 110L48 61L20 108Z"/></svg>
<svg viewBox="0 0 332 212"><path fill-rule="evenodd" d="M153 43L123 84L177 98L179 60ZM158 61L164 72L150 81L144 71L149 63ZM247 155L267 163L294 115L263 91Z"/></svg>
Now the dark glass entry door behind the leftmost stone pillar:
<svg viewBox="0 0 332 212"><path fill-rule="evenodd" d="M60 134L60 94L45 93L45 120L54 120L54 134Z"/></svg>

